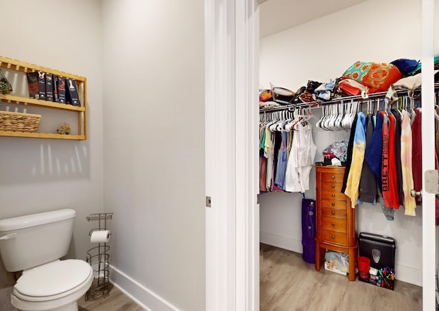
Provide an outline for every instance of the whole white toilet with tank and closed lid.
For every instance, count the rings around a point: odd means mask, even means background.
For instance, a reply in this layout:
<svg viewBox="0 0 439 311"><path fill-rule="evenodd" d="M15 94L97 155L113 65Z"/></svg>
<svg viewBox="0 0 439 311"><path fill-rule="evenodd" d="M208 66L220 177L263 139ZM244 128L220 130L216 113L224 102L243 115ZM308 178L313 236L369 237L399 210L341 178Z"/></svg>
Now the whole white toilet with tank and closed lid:
<svg viewBox="0 0 439 311"><path fill-rule="evenodd" d="M12 290L21 311L78 311L93 282L84 260L60 260L69 251L75 210L0 220L0 255L6 271L23 271Z"/></svg>

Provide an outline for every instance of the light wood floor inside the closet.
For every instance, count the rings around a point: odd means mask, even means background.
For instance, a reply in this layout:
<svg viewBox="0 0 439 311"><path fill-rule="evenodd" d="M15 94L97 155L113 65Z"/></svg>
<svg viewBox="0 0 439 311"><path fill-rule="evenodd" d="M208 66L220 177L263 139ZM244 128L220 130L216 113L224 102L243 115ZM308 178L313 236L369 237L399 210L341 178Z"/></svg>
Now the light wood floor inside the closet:
<svg viewBox="0 0 439 311"><path fill-rule="evenodd" d="M394 290L379 288L314 264L302 254L261 244L260 310L375 311L422 310L422 287L395 281Z"/></svg>

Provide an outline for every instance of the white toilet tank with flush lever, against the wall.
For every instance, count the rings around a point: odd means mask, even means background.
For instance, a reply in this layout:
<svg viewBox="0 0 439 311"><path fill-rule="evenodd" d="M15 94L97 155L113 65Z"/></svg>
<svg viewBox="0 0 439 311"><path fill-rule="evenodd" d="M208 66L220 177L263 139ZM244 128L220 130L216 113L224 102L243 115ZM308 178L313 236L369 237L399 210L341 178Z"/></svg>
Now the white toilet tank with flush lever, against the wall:
<svg viewBox="0 0 439 311"><path fill-rule="evenodd" d="M0 220L0 255L7 271L21 271L65 256L75 210L64 209Z"/></svg>

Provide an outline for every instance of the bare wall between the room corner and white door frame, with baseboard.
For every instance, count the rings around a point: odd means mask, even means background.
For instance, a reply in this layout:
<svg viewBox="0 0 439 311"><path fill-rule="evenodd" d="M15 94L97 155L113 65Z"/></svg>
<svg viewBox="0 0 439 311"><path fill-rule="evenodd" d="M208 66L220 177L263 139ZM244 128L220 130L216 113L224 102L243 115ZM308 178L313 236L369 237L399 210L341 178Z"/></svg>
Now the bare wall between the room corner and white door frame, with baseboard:
<svg viewBox="0 0 439 311"><path fill-rule="evenodd" d="M204 310L204 3L102 8L112 279L152 310Z"/></svg>

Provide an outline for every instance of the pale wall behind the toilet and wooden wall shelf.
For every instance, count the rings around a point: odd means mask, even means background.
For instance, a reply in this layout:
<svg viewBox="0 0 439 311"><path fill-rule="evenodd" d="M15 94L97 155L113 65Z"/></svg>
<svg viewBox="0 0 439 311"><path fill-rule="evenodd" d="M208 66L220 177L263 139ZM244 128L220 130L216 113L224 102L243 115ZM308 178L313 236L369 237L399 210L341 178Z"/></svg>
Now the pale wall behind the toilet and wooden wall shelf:
<svg viewBox="0 0 439 311"><path fill-rule="evenodd" d="M85 259L90 247L90 223L85 216L102 211L100 2L16 0L1 4L7 30L0 55L86 77L90 122L85 141L0 138L0 219L73 208L77 216L69 256ZM45 113L53 112L39 111L43 119ZM63 121L60 117L58 122ZM10 308L9 297L3 293L13 283L1 264L1 310Z"/></svg>

